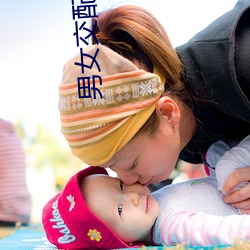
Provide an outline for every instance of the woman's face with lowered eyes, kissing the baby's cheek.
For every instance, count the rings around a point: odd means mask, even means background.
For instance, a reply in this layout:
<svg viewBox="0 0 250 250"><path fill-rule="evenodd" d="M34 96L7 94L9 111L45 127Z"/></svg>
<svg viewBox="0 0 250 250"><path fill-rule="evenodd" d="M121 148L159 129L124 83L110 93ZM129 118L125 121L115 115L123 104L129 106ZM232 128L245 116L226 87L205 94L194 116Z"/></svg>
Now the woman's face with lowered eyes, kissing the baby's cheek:
<svg viewBox="0 0 250 250"><path fill-rule="evenodd" d="M101 167L114 170L126 185L149 185L170 176L180 151L178 129L160 123L155 135L136 136Z"/></svg>

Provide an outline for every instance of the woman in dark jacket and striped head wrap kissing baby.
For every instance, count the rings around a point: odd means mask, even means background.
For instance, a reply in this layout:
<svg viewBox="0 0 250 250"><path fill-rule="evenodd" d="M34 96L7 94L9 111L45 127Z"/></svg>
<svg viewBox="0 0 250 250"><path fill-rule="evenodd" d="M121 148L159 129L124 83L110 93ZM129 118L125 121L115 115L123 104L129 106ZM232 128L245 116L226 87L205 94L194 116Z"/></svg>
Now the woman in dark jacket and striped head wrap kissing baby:
<svg viewBox="0 0 250 250"><path fill-rule="evenodd" d="M93 20L98 45L84 55L96 55L101 70L84 58L92 66L82 73L78 55L65 65L60 86L62 132L72 152L113 169L128 185L149 185L168 178L178 158L202 163L212 143L250 134L249 12L250 1L239 1L176 51L146 10L100 13ZM97 74L103 98L75 98L73 83ZM238 170L226 190L249 179L250 167ZM247 185L225 201L250 211L249 191Z"/></svg>

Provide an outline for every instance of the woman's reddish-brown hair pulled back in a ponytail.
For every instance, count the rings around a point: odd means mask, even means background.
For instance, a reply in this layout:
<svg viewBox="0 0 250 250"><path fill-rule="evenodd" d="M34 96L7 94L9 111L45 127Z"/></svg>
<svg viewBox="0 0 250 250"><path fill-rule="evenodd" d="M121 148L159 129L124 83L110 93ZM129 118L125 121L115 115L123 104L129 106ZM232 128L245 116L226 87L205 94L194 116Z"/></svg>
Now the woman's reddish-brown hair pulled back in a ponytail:
<svg viewBox="0 0 250 250"><path fill-rule="evenodd" d="M192 95L181 81L182 63L159 21L147 10L131 5L99 13L92 19L98 42L137 62L145 70L156 68L165 78L165 93L189 105ZM95 39L92 39L95 44ZM154 112L139 132L152 134L158 128Z"/></svg>

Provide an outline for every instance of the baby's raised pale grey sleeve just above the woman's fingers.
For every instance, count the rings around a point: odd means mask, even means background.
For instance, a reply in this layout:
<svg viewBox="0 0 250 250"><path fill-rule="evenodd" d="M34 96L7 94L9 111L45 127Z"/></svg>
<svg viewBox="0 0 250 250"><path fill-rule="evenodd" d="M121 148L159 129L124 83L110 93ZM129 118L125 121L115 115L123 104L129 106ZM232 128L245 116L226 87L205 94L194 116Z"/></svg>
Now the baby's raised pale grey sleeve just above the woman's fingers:
<svg viewBox="0 0 250 250"><path fill-rule="evenodd" d="M218 189L222 190L224 182L235 170L247 166L250 166L250 135L218 160L215 167ZM241 183L236 189L245 185L246 183Z"/></svg>

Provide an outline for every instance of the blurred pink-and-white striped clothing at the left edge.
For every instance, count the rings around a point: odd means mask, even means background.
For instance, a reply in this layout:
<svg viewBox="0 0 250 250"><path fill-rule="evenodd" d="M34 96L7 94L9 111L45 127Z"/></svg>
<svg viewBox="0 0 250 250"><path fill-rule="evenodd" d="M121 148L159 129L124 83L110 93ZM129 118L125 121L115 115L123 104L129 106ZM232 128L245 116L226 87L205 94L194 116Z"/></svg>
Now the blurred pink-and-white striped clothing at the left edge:
<svg viewBox="0 0 250 250"><path fill-rule="evenodd" d="M12 124L0 119L0 221L28 223L31 197L25 155Z"/></svg>

